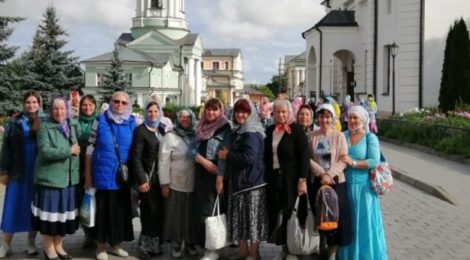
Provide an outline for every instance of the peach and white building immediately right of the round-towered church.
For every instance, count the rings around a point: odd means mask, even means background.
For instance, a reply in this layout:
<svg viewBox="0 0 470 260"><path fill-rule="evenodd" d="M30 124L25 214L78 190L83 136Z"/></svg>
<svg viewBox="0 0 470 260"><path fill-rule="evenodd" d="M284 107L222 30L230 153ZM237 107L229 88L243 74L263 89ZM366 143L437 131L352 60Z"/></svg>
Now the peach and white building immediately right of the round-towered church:
<svg viewBox="0 0 470 260"><path fill-rule="evenodd" d="M217 97L232 106L243 94L244 77L240 49L204 49L202 64L208 98Z"/></svg>

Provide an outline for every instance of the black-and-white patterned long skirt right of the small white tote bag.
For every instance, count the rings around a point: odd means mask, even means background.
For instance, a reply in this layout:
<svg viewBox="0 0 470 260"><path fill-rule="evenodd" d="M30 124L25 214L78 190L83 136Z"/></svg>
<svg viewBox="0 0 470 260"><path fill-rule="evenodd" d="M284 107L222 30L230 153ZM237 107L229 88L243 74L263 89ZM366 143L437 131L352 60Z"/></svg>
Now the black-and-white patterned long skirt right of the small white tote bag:
<svg viewBox="0 0 470 260"><path fill-rule="evenodd" d="M266 187L239 193L230 198L232 241L264 241L268 237Z"/></svg>

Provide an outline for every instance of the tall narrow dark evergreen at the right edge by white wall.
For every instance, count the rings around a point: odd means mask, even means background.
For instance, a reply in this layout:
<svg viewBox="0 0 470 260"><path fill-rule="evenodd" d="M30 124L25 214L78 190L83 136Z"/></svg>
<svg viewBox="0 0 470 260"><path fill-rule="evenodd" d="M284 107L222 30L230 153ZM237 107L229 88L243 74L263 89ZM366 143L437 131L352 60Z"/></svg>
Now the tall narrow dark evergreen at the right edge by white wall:
<svg viewBox="0 0 470 260"><path fill-rule="evenodd" d="M470 103L470 38L463 19L450 28L444 50L439 108L454 110L457 102Z"/></svg>

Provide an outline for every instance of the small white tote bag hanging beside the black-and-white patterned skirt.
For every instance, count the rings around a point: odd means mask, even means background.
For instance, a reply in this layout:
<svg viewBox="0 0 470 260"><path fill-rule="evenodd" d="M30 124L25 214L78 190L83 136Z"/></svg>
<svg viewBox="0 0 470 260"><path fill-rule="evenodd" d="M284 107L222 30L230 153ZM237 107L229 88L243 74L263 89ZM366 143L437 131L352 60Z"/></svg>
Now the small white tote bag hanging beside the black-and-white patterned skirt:
<svg viewBox="0 0 470 260"><path fill-rule="evenodd" d="M227 216L225 214L220 214L219 201L219 195L217 195L214 203L214 209L212 210L212 216L207 217L205 221L205 248L210 250L217 250L227 245Z"/></svg>

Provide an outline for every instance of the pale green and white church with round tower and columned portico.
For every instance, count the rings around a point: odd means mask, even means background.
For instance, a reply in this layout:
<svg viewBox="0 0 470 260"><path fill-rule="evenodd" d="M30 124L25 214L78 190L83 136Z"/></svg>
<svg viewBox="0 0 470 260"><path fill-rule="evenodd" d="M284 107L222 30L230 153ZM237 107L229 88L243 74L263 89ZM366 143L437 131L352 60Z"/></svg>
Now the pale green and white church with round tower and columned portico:
<svg viewBox="0 0 470 260"><path fill-rule="evenodd" d="M164 103L200 105L203 47L199 35L188 30L184 0L136 0L131 32L115 45L139 105L149 94ZM86 94L98 93L111 57L108 52L82 61Z"/></svg>

